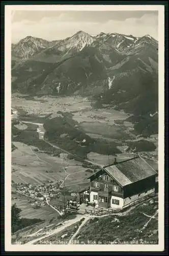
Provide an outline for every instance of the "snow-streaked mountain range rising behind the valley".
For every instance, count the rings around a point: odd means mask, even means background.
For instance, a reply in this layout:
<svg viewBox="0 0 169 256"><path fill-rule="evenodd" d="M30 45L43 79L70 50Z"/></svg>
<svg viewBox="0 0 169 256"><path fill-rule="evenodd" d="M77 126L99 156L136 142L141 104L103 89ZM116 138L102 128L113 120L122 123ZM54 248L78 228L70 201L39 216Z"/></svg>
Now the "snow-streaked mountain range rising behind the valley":
<svg viewBox="0 0 169 256"><path fill-rule="evenodd" d="M89 96L97 107L124 109L131 121L144 119L157 132L150 113L158 111L158 41L150 35L78 31L53 41L27 36L12 44L11 53L12 92Z"/></svg>

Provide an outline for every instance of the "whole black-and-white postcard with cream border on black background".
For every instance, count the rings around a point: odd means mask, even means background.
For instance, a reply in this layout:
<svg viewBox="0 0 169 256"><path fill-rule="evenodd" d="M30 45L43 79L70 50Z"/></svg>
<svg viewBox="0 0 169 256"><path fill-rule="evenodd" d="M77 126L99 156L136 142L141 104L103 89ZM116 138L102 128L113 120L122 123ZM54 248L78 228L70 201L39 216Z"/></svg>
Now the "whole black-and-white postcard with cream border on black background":
<svg viewBox="0 0 169 256"><path fill-rule="evenodd" d="M163 6L6 7L7 249L162 251Z"/></svg>

